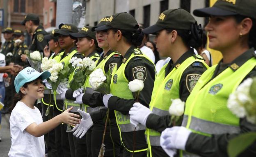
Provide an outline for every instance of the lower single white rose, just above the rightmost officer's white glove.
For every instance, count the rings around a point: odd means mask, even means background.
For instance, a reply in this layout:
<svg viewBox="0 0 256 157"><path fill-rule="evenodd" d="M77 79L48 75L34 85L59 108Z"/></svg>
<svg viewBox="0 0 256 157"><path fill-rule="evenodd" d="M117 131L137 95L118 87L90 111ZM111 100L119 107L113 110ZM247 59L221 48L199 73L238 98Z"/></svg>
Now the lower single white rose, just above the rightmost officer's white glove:
<svg viewBox="0 0 256 157"><path fill-rule="evenodd" d="M171 106L169 107L170 115L181 116L184 114L185 102L180 99L172 99Z"/></svg>

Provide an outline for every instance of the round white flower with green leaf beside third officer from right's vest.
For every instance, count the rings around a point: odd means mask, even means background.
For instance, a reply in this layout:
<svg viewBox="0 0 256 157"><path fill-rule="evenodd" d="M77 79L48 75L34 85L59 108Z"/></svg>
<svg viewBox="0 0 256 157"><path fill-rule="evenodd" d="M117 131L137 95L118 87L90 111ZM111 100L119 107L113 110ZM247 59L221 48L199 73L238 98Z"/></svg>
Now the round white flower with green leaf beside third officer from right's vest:
<svg viewBox="0 0 256 157"><path fill-rule="evenodd" d="M110 71L104 75L102 69L96 69L90 74L89 83L94 91L110 94Z"/></svg>

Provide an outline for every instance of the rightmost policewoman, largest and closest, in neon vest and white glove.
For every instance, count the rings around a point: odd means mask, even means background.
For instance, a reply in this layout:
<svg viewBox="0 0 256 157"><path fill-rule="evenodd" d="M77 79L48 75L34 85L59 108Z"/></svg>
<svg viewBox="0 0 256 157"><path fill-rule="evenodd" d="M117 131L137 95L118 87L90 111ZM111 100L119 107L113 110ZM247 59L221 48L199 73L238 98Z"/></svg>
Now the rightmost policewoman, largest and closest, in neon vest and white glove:
<svg viewBox="0 0 256 157"><path fill-rule="evenodd" d="M227 107L229 95L243 80L256 76L256 1L218 0L194 15L210 17L209 47L223 59L206 70L187 98L182 126L167 128L161 146L180 149L184 157L227 157L229 140L255 132L256 125L236 117ZM193 131L193 132L192 132ZM254 157L255 142L240 157Z"/></svg>

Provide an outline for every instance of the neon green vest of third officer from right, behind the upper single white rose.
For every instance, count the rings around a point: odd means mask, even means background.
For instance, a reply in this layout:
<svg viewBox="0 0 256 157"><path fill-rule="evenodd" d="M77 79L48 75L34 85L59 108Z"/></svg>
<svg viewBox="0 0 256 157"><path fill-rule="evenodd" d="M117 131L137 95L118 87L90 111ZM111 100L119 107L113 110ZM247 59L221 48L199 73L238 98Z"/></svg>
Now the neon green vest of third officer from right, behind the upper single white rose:
<svg viewBox="0 0 256 157"><path fill-rule="evenodd" d="M139 50L139 49L137 49L137 50ZM115 66L114 70L112 72L112 78L111 78L112 81L110 83L110 91L111 91L112 95L120 97L122 99L127 99L127 100L134 99L132 92L128 88L129 81L127 80L127 78L125 76L125 68L126 68L128 62L133 57L145 57L146 59L148 59L148 57L146 57L146 55L143 55L143 54L135 55L134 53L132 53L130 55L130 57L126 60L126 62L121 64L119 69L117 69L117 66ZM150 62L152 62L150 59L148 59L148 60ZM130 124L130 115L129 114L123 115L119 111L114 111L114 113L115 113L116 120L117 120L117 126L119 128L121 142L122 142L124 148L126 148L126 144L124 144L123 140L122 140L122 132L133 132L135 127L133 126L133 124ZM136 127L136 131L145 130L145 129L146 129L146 127L142 126L141 124L139 124ZM128 149L126 148L126 150L128 150ZM147 150L147 148L141 149L141 150L135 150L134 152L141 152L141 151L146 151L146 150ZM133 150L128 150L128 151L133 152Z"/></svg>

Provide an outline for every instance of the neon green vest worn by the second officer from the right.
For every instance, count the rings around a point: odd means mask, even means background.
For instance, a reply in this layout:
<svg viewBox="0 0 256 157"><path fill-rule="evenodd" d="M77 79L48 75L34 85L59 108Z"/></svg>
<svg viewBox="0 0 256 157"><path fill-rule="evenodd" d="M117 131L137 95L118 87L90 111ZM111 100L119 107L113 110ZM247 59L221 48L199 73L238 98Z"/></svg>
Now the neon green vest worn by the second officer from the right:
<svg viewBox="0 0 256 157"><path fill-rule="evenodd" d="M204 66L207 64L201 58L201 56L188 57L178 67L172 69L171 72L165 77L165 68L168 64L162 67L158 76L154 82L154 88L151 96L151 102L149 104L150 110L159 116L169 115L169 107L171 106L171 99L180 98L180 80L183 72L194 62L201 62ZM200 77L200 75L199 75ZM146 139L149 145L149 152L151 154L151 146L160 146L160 133L152 129L146 129Z"/></svg>

